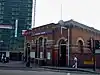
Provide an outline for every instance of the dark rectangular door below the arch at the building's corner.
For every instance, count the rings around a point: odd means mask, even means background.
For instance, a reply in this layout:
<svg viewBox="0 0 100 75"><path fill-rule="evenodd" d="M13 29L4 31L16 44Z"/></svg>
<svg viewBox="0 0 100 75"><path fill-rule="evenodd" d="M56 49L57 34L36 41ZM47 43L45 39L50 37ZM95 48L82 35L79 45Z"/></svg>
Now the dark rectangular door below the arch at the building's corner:
<svg viewBox="0 0 100 75"><path fill-rule="evenodd" d="M66 45L61 45L60 66L66 66Z"/></svg>

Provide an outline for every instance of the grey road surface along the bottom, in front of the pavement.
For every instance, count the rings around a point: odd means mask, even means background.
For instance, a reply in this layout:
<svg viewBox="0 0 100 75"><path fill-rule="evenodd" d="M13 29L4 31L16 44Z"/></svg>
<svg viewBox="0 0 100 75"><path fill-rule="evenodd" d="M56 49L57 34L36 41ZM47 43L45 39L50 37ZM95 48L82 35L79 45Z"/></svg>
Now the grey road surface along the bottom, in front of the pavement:
<svg viewBox="0 0 100 75"><path fill-rule="evenodd" d="M51 71L0 70L0 75L99 75L99 74L79 74L79 73L63 73L63 72L51 72Z"/></svg>

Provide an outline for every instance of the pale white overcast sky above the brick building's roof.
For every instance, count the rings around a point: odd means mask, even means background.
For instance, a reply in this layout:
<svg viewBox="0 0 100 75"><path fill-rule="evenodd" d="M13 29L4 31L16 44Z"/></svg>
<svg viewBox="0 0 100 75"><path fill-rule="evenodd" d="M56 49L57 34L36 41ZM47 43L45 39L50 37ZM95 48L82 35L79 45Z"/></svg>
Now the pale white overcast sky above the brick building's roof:
<svg viewBox="0 0 100 75"><path fill-rule="evenodd" d="M100 30L100 0L36 0L35 27L73 19ZM34 2L34 0L33 0ZM34 10L33 10L34 11Z"/></svg>

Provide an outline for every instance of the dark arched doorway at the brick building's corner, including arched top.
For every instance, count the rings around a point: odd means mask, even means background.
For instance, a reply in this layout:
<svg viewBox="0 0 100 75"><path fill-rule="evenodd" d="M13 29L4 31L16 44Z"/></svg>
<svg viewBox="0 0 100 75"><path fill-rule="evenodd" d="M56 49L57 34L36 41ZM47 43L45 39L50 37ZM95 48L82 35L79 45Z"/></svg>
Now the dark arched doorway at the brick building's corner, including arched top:
<svg viewBox="0 0 100 75"><path fill-rule="evenodd" d="M59 49L58 49L58 65L66 66L66 41L59 41Z"/></svg>

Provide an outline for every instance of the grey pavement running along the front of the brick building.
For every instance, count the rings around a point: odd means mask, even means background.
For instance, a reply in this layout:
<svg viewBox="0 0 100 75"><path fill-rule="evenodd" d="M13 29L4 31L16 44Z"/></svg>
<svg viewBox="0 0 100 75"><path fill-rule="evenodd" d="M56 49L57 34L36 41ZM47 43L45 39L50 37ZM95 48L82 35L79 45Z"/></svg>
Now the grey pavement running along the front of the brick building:
<svg viewBox="0 0 100 75"><path fill-rule="evenodd" d="M54 67L54 66L36 66L31 64L31 67L26 67L25 63L22 61L10 61L9 63L0 63L0 69L3 70L27 70L27 71L60 71L60 72L87 72L100 74L100 70L97 69L93 71L92 69L83 68L68 68L68 67Z"/></svg>

